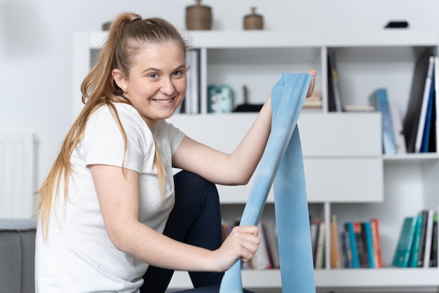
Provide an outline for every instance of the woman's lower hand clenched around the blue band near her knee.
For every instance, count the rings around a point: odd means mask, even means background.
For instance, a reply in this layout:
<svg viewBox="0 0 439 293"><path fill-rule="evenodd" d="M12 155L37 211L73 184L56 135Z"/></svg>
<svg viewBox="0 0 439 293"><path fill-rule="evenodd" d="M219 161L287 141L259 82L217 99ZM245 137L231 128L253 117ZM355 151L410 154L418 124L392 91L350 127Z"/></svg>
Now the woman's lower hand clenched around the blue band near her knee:
<svg viewBox="0 0 439 293"><path fill-rule="evenodd" d="M219 249L213 252L215 271L227 271L238 259L250 261L261 240L257 226L236 226L231 230Z"/></svg>

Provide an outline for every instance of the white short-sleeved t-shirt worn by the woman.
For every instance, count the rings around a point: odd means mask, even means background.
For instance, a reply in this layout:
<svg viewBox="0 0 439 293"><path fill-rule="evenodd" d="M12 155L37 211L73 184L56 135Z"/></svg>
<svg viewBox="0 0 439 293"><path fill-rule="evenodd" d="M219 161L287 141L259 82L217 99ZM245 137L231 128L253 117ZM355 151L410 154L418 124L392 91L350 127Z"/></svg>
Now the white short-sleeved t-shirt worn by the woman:
<svg viewBox="0 0 439 293"><path fill-rule="evenodd" d="M72 154L74 171L69 179L69 200L63 200L61 185L55 213L50 216L48 242L44 242L40 226L36 233L37 293L133 293L142 285L148 264L119 251L109 240L88 165L123 164L139 172L140 221L163 233L175 202L171 159L184 134L172 124L158 121L153 138L132 106L115 106L128 141L125 159L123 137L114 115L108 107L98 109ZM154 140L166 170L164 202L154 165Z"/></svg>

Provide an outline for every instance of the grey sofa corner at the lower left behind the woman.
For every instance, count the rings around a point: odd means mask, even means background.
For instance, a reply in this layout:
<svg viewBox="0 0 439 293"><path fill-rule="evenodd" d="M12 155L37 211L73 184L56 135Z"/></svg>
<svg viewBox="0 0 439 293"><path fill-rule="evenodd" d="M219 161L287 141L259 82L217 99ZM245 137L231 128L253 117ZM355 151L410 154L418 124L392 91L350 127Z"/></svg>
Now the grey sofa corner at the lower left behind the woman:
<svg viewBox="0 0 439 293"><path fill-rule="evenodd" d="M0 292L35 293L36 222L0 219Z"/></svg>

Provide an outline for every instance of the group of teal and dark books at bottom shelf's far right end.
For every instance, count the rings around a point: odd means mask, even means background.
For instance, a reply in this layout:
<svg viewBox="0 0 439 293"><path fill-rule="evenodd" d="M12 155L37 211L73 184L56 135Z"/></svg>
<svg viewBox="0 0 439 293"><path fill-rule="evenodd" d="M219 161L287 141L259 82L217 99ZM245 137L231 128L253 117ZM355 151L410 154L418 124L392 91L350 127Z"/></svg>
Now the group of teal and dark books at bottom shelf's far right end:
<svg viewBox="0 0 439 293"><path fill-rule="evenodd" d="M393 266L430 268L438 266L438 212L424 209L407 216L400 230Z"/></svg>

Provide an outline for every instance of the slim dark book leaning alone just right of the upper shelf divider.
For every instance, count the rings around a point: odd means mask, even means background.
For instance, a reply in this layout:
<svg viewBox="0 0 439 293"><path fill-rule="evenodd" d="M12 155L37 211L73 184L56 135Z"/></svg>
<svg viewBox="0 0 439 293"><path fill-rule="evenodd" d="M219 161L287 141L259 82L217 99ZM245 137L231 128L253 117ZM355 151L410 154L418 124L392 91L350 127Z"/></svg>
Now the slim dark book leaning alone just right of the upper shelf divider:
<svg viewBox="0 0 439 293"><path fill-rule="evenodd" d="M342 112L342 98L339 86L339 72L335 51L327 51L327 85L328 85L328 110L331 112Z"/></svg>

